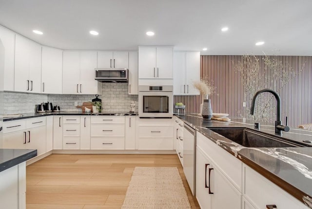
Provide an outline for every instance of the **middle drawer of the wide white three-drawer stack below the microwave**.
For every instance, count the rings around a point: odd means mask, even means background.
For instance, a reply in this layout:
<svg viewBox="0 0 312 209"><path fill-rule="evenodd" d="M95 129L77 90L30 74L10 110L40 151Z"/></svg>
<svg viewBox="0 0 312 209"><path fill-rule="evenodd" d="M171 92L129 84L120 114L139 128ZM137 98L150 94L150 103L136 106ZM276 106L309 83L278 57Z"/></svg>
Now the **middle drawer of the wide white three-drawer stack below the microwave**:
<svg viewBox="0 0 312 209"><path fill-rule="evenodd" d="M93 124L91 125L92 137L124 137L125 125L124 124Z"/></svg>

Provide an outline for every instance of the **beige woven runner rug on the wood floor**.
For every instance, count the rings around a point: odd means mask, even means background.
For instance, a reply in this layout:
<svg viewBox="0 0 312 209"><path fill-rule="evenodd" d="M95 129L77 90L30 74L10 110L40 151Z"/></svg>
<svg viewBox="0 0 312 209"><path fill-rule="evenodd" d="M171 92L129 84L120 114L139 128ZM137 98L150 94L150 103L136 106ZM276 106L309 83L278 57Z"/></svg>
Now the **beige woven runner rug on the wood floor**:
<svg viewBox="0 0 312 209"><path fill-rule="evenodd" d="M176 167L135 167L122 209L191 209Z"/></svg>

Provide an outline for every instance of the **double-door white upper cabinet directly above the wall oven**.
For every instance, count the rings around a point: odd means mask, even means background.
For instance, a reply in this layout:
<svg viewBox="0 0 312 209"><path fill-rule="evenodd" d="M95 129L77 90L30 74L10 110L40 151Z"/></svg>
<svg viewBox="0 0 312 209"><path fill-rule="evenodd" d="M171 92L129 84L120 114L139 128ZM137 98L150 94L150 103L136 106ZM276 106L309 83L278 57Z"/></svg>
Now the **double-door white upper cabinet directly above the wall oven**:
<svg viewBox="0 0 312 209"><path fill-rule="evenodd" d="M173 47L139 46L139 79L173 79Z"/></svg>

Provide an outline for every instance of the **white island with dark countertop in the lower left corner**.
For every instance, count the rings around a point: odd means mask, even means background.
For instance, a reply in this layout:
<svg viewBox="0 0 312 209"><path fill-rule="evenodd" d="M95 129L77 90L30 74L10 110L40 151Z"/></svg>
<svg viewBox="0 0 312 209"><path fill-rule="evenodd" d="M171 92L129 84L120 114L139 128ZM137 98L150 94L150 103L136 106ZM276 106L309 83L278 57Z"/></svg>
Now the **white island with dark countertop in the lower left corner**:
<svg viewBox="0 0 312 209"><path fill-rule="evenodd" d="M26 160L37 156L34 149L0 149L1 209L26 208Z"/></svg>

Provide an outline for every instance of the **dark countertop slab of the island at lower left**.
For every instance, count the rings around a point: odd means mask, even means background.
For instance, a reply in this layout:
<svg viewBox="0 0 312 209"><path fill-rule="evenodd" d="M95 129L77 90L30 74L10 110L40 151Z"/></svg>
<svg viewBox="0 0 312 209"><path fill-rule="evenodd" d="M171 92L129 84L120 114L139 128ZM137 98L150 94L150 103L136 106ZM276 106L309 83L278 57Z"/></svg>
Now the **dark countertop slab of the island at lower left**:
<svg viewBox="0 0 312 209"><path fill-rule="evenodd" d="M37 149L0 149L0 172L37 156Z"/></svg>

